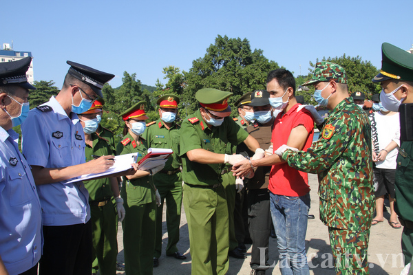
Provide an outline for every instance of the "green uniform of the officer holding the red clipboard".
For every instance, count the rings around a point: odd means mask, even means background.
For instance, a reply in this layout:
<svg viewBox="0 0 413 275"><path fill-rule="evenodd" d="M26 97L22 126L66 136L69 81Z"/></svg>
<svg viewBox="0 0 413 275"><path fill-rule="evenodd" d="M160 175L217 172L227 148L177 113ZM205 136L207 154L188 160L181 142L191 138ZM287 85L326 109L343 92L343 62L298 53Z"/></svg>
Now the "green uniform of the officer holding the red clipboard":
<svg viewBox="0 0 413 275"><path fill-rule="evenodd" d="M147 154L147 142L140 137L138 145L128 133L118 143L118 155L138 153L138 159ZM156 201L151 176L126 179L120 195L125 200L123 246L126 274L152 274L152 256L155 250Z"/></svg>

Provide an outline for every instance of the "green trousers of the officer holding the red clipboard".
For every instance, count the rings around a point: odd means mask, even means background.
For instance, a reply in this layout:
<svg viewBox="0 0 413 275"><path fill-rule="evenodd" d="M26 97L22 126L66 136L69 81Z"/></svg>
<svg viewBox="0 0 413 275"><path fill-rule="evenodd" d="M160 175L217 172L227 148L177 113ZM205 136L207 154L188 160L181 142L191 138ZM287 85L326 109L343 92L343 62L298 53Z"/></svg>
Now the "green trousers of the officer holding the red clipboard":
<svg viewBox="0 0 413 275"><path fill-rule="evenodd" d="M151 275L155 250L156 201L125 207L123 251L127 275Z"/></svg>

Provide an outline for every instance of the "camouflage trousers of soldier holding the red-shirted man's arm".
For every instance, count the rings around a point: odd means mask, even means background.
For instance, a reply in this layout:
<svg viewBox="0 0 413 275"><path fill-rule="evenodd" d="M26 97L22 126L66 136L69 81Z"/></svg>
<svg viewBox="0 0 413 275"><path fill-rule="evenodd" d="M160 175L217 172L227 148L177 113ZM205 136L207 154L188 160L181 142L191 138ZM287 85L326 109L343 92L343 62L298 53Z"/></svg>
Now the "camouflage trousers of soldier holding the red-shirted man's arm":
<svg viewBox="0 0 413 275"><path fill-rule="evenodd" d="M337 274L370 274L367 260L370 228L366 231L328 228L328 233Z"/></svg>

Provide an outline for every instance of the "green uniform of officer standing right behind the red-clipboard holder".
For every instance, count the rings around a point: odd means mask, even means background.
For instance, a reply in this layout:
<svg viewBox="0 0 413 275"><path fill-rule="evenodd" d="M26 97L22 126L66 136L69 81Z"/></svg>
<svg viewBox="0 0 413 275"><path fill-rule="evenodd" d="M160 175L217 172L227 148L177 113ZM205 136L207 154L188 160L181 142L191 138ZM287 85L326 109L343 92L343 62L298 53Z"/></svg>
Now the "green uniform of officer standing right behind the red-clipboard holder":
<svg viewBox="0 0 413 275"><path fill-rule="evenodd" d="M182 175L180 173L181 160L179 156L180 126L173 123L170 129L165 127L161 119L147 125L143 136L152 148L169 148L173 154L169 157L165 167L153 175L153 182L158 189L161 205L156 212L156 248L153 257L159 258L162 252L162 209L163 202L167 203L167 255L178 252L176 244L179 241L179 225L182 206Z"/></svg>

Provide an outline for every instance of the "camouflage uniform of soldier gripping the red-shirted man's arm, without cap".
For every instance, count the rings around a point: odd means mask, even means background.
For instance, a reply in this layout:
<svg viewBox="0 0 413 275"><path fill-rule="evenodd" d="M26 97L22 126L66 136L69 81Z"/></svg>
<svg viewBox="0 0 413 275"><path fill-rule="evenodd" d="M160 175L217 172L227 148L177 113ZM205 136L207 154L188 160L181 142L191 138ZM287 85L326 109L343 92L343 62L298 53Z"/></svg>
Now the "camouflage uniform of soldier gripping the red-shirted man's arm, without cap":
<svg viewBox="0 0 413 275"><path fill-rule="evenodd" d="M346 98L332 110L307 152L282 154L289 166L318 174L320 219L328 226L337 274L368 274L374 211L370 135L366 113Z"/></svg>

